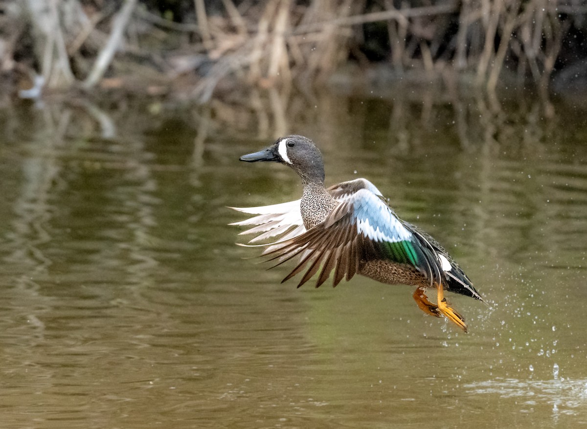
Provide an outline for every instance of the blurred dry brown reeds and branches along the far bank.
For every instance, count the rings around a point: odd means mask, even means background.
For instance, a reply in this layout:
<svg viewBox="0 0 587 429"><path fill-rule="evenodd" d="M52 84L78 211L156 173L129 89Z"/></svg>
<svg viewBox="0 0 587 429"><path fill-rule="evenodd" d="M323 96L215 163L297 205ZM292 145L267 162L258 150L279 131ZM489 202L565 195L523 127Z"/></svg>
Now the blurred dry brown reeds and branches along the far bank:
<svg viewBox="0 0 587 429"><path fill-rule="evenodd" d="M198 101L237 87L307 91L349 61L396 77L474 74L490 91L507 68L546 87L555 67L587 57L586 15L585 0L4 0L0 73L5 90L31 80Z"/></svg>

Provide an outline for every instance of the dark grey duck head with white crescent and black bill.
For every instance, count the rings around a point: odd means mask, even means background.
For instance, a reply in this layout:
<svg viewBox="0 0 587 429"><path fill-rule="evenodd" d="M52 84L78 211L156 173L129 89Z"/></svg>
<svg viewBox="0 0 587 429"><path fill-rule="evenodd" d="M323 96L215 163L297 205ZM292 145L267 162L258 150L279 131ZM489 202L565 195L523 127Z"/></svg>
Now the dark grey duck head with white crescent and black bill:
<svg viewBox="0 0 587 429"><path fill-rule="evenodd" d="M309 138L288 135L262 151L242 155L241 161L274 161L293 168L302 182L324 183L322 154Z"/></svg>

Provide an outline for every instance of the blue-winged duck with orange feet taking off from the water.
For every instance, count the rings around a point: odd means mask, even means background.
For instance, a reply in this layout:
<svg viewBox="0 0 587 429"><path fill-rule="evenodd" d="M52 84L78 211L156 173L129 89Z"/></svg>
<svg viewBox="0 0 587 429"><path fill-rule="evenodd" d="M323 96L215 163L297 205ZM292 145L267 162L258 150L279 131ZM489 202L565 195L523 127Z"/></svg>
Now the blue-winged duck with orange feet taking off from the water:
<svg viewBox="0 0 587 429"><path fill-rule="evenodd" d="M261 255L274 261L273 267L296 260L282 282L305 271L301 287L320 271L319 287L334 271L333 287L355 274L384 284L415 286L412 296L423 312L446 316L467 332L465 319L448 305L445 292L482 302L483 298L448 252L429 234L400 219L373 183L359 178L326 188L322 154L302 135L279 138L266 149L241 156L240 161L278 162L302 179L299 200L230 207L254 215L231 223L248 227L241 234L257 234L241 246L264 247ZM270 242L257 244L261 241ZM436 304L426 295L429 289L436 289Z"/></svg>

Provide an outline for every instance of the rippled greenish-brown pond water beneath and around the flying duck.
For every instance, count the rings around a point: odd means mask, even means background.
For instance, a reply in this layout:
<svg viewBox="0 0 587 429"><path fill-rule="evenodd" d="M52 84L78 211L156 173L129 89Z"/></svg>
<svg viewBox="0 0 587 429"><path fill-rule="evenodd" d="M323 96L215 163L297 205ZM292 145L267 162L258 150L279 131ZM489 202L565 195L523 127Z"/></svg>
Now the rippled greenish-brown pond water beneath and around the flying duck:
<svg viewBox="0 0 587 429"><path fill-rule="evenodd" d="M587 423L585 107L101 107L0 110L2 427ZM469 333L411 287L296 289L235 246L226 206L299 198L288 168L238 161L290 132L450 251L488 303L448 297Z"/></svg>

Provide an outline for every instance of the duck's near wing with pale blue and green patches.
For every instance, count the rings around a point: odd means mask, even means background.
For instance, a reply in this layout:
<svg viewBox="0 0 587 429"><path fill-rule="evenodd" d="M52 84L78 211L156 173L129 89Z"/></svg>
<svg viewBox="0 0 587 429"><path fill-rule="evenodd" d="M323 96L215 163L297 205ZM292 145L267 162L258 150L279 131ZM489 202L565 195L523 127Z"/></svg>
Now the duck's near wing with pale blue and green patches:
<svg viewBox="0 0 587 429"><path fill-rule="evenodd" d="M373 186L375 188L375 186ZM375 188L376 189L376 188ZM423 248L379 195L367 188L356 190L343 199L323 222L291 240L281 242L265 254L273 254L281 264L302 254L301 261L284 279L288 280L306 267L299 285L308 281L319 268L316 286L335 271L333 285L347 280L359 270L362 261L387 260L416 267L433 281L434 255Z"/></svg>

